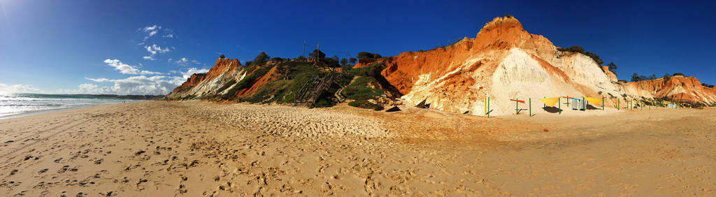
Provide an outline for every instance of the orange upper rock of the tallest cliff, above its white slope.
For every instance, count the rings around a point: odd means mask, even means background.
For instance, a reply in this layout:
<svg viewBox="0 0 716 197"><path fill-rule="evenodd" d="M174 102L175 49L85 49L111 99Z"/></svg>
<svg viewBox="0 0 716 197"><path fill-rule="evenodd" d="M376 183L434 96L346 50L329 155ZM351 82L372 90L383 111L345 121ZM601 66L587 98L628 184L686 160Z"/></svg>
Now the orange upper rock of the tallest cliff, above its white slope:
<svg viewBox="0 0 716 197"><path fill-rule="evenodd" d="M497 17L480 29L475 39L463 38L444 48L427 52L405 52L397 57L387 57L388 68L383 74L403 94L412 89L418 75L431 73L445 75L459 64L470 63L466 71L474 72L477 67L496 67L494 60L502 59L511 48L533 50L537 54L553 54L556 47L548 39L529 34L522 24L513 17ZM480 58L482 57L482 58ZM468 61L480 59L479 61ZM465 79L466 85L470 80Z"/></svg>

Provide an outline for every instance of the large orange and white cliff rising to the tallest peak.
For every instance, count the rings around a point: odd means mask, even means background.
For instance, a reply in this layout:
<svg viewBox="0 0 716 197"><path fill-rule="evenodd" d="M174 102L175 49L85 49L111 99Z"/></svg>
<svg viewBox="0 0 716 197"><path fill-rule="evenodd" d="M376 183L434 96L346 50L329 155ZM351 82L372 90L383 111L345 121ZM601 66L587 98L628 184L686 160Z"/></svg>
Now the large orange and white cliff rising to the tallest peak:
<svg viewBox="0 0 716 197"><path fill-rule="evenodd" d="M407 104L425 101L437 110L473 115L483 115L485 97L490 97L494 107L491 115L504 115L514 111L505 107L514 105L510 99L621 97L632 90L617 83L607 67L584 54L558 51L545 37L526 32L512 16L489 21L475 39L464 38L426 52L403 52L377 62L385 64L382 75ZM359 62L355 67L371 63ZM705 90L698 94L714 95ZM639 95L627 91L627 97ZM611 102L605 103L613 106Z"/></svg>

